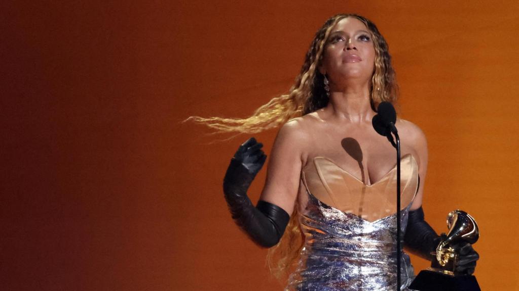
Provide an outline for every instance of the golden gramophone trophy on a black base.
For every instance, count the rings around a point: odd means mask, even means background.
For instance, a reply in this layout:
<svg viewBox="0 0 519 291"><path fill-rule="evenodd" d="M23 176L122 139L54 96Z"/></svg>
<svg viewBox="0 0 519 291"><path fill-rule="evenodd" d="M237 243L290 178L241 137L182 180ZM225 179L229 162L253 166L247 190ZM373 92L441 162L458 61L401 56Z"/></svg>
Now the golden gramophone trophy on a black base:
<svg viewBox="0 0 519 291"><path fill-rule="evenodd" d="M447 215L447 227L447 235L436 252L431 253L436 259L433 259L430 268L420 271L409 288L418 291L481 291L473 275L456 272L459 255L453 248L456 243L473 244L479 239L476 221L467 212L454 210Z"/></svg>

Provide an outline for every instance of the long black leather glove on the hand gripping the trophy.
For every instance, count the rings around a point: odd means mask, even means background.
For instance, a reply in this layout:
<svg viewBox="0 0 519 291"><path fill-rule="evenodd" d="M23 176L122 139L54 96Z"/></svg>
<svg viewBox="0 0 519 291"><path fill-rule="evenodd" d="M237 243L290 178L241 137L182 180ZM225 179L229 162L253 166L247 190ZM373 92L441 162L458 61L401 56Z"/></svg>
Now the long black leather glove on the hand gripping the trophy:
<svg viewBox="0 0 519 291"><path fill-rule="evenodd" d="M424 209L420 208L409 211L407 228L405 230L404 243L408 248L415 251L420 257L433 260L435 256L431 252L436 251L436 247L442 240L434 229L425 221ZM442 234L445 236L445 234ZM459 259L456 265L456 271L465 274L474 273L476 260L480 258L479 254L472 248L470 243L454 244L453 248L458 251Z"/></svg>

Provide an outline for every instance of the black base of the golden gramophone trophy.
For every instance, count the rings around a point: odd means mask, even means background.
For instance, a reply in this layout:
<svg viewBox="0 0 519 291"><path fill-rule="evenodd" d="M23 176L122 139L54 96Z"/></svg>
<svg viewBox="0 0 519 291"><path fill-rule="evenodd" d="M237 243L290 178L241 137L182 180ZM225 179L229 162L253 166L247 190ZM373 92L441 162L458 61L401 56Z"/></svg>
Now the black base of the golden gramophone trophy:
<svg viewBox="0 0 519 291"><path fill-rule="evenodd" d="M437 271L423 270L418 273L409 289L417 291L481 291L473 275L443 274Z"/></svg>

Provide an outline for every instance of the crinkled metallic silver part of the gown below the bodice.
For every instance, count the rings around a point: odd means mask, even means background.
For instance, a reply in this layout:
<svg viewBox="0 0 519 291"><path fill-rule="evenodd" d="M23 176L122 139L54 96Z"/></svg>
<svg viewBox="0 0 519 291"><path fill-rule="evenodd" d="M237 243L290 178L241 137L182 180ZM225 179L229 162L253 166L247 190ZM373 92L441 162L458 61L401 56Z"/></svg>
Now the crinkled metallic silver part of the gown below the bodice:
<svg viewBox="0 0 519 291"><path fill-rule="evenodd" d="M395 290L397 284L397 215L373 223L324 205L310 196L300 216L306 236L298 269L286 290ZM402 228L407 225L402 213ZM402 253L402 290L414 277L409 256Z"/></svg>

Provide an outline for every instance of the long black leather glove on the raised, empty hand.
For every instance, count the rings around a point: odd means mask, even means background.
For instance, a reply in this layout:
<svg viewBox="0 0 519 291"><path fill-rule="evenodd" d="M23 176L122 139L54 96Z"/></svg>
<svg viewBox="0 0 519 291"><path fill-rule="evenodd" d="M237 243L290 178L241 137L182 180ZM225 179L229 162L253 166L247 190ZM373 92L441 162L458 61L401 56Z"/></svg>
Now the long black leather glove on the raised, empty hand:
<svg viewBox="0 0 519 291"><path fill-rule="evenodd" d="M252 205L247 190L256 174L261 170L267 156L253 137L245 141L231 159L224 178L224 195L233 219L257 244L270 248L276 245L290 215L282 208L258 201Z"/></svg>

